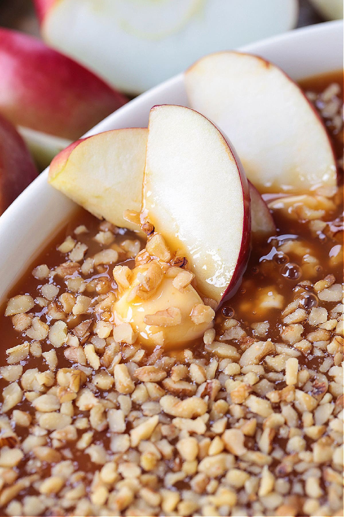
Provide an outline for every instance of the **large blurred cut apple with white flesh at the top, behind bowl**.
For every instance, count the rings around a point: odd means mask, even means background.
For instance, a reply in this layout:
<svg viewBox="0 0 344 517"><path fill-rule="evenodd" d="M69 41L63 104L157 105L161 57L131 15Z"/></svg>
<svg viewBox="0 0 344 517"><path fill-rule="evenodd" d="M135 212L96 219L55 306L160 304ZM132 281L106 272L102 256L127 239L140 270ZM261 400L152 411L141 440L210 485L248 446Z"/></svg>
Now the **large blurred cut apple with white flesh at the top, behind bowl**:
<svg viewBox="0 0 344 517"><path fill-rule="evenodd" d="M209 52L296 24L297 0L34 0L43 39L138 94Z"/></svg>

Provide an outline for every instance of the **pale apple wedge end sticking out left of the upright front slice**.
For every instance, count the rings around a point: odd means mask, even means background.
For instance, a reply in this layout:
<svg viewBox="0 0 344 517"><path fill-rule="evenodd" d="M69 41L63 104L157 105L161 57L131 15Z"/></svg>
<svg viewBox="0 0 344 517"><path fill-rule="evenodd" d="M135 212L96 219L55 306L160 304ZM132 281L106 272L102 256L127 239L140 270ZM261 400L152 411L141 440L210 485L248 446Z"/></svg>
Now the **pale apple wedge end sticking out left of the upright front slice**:
<svg viewBox="0 0 344 517"><path fill-rule="evenodd" d="M137 230L123 212L141 210L147 132L114 129L78 140L54 158L48 181L96 217Z"/></svg>

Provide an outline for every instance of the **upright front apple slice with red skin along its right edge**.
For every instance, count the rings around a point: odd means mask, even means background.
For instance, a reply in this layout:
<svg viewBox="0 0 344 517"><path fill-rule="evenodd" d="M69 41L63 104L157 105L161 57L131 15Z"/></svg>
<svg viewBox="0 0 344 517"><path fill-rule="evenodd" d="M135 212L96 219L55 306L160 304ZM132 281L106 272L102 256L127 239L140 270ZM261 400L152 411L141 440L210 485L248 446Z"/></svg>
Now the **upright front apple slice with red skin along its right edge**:
<svg viewBox="0 0 344 517"><path fill-rule="evenodd" d="M249 256L247 178L224 136L196 111L155 106L148 129L142 216L186 256L198 290L219 303Z"/></svg>

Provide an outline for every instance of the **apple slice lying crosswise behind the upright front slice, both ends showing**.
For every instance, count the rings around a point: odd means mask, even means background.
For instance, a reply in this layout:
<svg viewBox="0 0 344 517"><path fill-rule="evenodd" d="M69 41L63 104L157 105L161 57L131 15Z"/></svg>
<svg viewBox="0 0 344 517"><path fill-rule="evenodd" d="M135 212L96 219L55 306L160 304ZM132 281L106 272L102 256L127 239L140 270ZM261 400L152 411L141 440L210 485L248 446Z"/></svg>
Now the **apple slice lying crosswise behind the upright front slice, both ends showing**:
<svg viewBox="0 0 344 517"><path fill-rule="evenodd" d="M110 136L109 133L113 134ZM120 212L120 210L125 209L125 203L127 203L126 208L130 207L135 211L141 210L147 136L148 130L139 128L109 131L80 140L79 143L83 143L80 148L72 144L53 160L50 167L49 181L55 188L61 190L76 203L84 206L84 208L89 209L97 217L103 217L111 222L114 222L116 219L116 224L128 226L128 221L122 218L123 212ZM135 150L132 163L130 165L127 163L124 171L117 171L121 177L125 178L127 186L130 188L130 190L125 189L125 199L120 196L118 200L119 188L116 188L116 191L108 188L108 178L105 176L103 162L108 159L109 153L113 152L113 146L122 146L123 153L130 153L132 150ZM93 156L95 153L97 153L96 166L94 166L93 161L90 163L90 156ZM140 153L142 154L140 155ZM69 159L71 154L72 157ZM113 170L113 172L115 171ZM94 174L96 178L93 178ZM87 181L85 181L86 177L88 178ZM111 178L111 181L114 179L116 178ZM252 233L256 235L272 235L275 232L275 224L269 208L257 189L250 182L249 189ZM95 194L94 200L93 193ZM134 225L129 226L135 229Z"/></svg>

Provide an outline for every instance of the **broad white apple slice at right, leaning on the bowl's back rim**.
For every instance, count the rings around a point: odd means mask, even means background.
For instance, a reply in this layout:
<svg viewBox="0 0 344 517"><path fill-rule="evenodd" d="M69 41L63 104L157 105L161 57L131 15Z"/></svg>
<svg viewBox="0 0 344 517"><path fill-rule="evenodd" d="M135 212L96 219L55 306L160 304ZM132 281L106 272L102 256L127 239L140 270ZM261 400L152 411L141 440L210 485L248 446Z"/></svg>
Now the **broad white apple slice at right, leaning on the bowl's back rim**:
<svg viewBox="0 0 344 517"><path fill-rule="evenodd" d="M325 127L280 68L257 56L219 52L192 65L185 84L191 108L230 136L259 192L336 185Z"/></svg>

